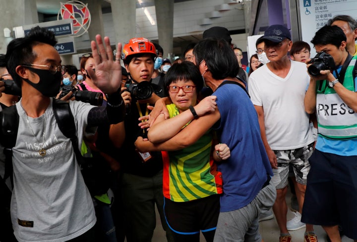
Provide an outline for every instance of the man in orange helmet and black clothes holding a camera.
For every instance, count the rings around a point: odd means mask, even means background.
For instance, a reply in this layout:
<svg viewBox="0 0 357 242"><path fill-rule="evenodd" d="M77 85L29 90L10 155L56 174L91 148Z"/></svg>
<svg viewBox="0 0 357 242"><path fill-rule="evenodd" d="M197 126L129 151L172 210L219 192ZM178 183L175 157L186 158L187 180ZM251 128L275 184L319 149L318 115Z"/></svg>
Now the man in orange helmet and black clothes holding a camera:
<svg viewBox="0 0 357 242"><path fill-rule="evenodd" d="M148 115L147 106L164 96L163 88L151 83L154 72L155 46L145 38L129 40L121 58L128 73L125 91L131 95L131 104L125 116L125 141L120 149L122 168L122 200L125 214L127 242L151 241L156 224L155 203L168 241L173 241L164 218L163 161L160 152L139 153L134 142L138 136L146 138L138 124L139 117Z"/></svg>

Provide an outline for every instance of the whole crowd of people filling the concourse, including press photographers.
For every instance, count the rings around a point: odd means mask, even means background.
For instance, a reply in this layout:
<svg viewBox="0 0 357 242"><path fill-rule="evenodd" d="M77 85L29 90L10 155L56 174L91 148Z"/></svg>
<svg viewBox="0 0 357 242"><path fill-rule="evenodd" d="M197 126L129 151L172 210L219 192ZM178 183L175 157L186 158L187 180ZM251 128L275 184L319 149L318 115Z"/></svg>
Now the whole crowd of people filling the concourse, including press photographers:
<svg viewBox="0 0 357 242"><path fill-rule="evenodd" d="M274 215L280 242L357 241L356 39L337 15L311 58L271 25L246 66L224 27L175 62L97 35L77 69L31 29L0 55L0 241L150 242L156 209L168 242L261 242Z"/></svg>

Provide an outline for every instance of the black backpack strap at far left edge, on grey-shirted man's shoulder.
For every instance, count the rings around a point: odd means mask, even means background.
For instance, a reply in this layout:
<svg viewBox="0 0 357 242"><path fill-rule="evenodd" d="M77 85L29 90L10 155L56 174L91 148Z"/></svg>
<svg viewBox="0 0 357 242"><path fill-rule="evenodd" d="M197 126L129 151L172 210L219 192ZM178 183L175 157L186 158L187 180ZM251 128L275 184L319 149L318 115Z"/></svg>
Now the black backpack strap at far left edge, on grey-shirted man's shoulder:
<svg viewBox="0 0 357 242"><path fill-rule="evenodd" d="M4 107L0 112L1 136L0 143L4 147L5 173L3 180L8 177L12 180L12 147L16 144L17 131L19 126L19 115L16 106Z"/></svg>

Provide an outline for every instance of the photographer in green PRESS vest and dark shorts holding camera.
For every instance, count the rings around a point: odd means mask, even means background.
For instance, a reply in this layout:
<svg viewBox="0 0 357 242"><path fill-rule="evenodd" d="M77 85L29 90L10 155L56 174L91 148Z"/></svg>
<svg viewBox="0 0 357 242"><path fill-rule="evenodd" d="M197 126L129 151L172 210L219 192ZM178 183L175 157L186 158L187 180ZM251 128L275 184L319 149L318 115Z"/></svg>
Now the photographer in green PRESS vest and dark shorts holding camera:
<svg viewBox="0 0 357 242"><path fill-rule="evenodd" d="M321 225L331 241L341 241L341 225L357 241L357 57L347 52L338 26L322 27L311 43L325 61L308 65L304 104L307 113L316 112L318 137L309 159L301 221Z"/></svg>

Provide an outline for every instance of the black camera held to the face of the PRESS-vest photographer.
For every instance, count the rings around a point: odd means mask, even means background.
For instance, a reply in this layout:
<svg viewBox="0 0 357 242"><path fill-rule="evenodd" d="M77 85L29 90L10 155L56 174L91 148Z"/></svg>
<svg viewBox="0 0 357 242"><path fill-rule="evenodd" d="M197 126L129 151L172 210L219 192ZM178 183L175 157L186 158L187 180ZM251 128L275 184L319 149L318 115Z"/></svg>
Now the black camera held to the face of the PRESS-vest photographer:
<svg viewBox="0 0 357 242"><path fill-rule="evenodd" d="M310 63L312 63L312 65L307 68L307 71L314 77L320 76L320 71L331 71L335 68L335 61L333 57L323 51L318 52L316 56L311 59Z"/></svg>

